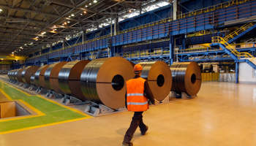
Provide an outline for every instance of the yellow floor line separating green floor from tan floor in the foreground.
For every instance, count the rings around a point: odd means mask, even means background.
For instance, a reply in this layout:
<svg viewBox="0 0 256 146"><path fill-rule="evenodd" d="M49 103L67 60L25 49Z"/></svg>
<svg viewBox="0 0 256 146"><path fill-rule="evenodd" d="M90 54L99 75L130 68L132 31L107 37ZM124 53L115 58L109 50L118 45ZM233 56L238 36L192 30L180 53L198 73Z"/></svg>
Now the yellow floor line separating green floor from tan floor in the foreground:
<svg viewBox="0 0 256 146"><path fill-rule="evenodd" d="M73 119L73 120L65 120L65 121L61 121L61 122L57 122L57 123L49 123L49 124L45 124L45 125L41 125L41 126L33 126L33 127L28 127L28 128L20 128L20 129L12 130L12 131L4 131L4 132L0 132L0 135L1 134L10 134L12 132L18 132L18 131L25 131L25 130L29 130L29 129L33 129L33 128L41 128L41 127L46 127L46 126L53 126L53 125L58 125L58 124L61 124L61 123L68 123L68 122L73 122L73 121L76 121L76 120L83 120L83 119L87 119L87 118L90 118L90 117L78 118L78 119Z"/></svg>

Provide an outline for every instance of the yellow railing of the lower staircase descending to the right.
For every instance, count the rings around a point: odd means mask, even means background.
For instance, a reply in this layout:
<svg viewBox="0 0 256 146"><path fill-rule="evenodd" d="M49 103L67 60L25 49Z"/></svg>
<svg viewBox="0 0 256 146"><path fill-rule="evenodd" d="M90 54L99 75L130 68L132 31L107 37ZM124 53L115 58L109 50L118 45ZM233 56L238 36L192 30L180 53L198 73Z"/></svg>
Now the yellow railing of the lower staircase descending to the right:
<svg viewBox="0 0 256 146"><path fill-rule="evenodd" d="M255 61L256 63L256 59L253 55L251 55L250 53L239 53L238 50L236 50L235 47L233 47L232 45L230 45L224 38L222 37L212 37L211 41L213 43L220 43L222 45L224 45L228 50L231 51L231 53L233 53L234 55L236 55L238 57L238 59L241 58L247 58L249 59L249 61ZM256 65L256 64L255 64Z"/></svg>

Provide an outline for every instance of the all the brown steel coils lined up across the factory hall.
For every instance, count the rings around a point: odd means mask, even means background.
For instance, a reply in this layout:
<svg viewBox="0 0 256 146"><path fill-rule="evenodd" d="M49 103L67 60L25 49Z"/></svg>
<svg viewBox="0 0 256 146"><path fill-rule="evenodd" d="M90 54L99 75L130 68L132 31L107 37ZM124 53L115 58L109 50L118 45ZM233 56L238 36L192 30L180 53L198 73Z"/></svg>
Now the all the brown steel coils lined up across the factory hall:
<svg viewBox="0 0 256 146"><path fill-rule="evenodd" d="M200 90L201 72L195 62L175 63L170 67L162 61L140 64L143 66L141 77L148 80L158 101L165 99L170 91L195 96ZM126 81L135 77L133 66L121 57L99 58L93 61L63 61L41 67L28 66L12 70L8 76L10 80L118 109L125 105Z"/></svg>

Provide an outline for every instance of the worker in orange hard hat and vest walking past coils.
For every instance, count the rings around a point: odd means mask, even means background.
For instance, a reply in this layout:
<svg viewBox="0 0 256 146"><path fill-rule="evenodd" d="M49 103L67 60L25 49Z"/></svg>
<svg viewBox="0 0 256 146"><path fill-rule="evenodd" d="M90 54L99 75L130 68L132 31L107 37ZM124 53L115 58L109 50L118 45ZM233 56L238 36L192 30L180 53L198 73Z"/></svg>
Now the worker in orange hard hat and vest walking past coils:
<svg viewBox="0 0 256 146"><path fill-rule="evenodd" d="M143 112L148 110L148 100L155 104L153 93L151 92L148 82L140 77L142 66L136 64L133 71L135 77L127 80L126 107L128 111L135 112L132 117L132 122L124 136L124 146L132 145L132 137L138 126L140 127L141 135L145 135L148 131L148 126L143 123Z"/></svg>

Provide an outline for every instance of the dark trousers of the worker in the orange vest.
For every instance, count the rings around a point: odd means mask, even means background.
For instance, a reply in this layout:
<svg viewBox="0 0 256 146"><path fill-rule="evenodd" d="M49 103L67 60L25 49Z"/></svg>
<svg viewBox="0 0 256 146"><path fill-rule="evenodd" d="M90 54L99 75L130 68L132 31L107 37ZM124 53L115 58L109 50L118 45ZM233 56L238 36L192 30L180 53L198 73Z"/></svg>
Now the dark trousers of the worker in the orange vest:
<svg viewBox="0 0 256 146"><path fill-rule="evenodd" d="M146 131L146 125L142 120L142 113L143 112L135 112L133 115L131 125L129 126L127 133L124 136L124 142L131 142L133 134L135 133L138 126L140 127L140 131Z"/></svg>

